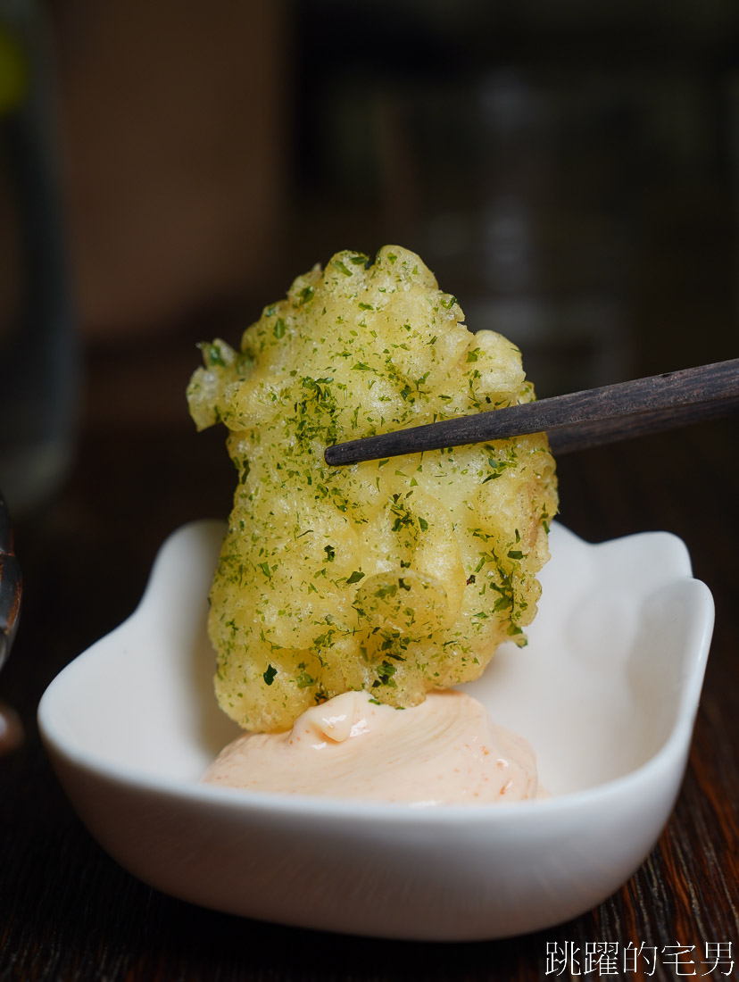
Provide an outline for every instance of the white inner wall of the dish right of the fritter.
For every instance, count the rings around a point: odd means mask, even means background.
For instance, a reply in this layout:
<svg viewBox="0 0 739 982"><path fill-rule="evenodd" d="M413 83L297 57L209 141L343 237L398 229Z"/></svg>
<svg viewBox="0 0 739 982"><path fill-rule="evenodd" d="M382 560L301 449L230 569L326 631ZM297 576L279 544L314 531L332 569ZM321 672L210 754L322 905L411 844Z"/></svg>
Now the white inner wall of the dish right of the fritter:
<svg viewBox="0 0 739 982"><path fill-rule="evenodd" d="M692 721L713 600L666 532L590 545L554 525L552 551L529 644L501 648L467 688L532 742L561 794L637 770Z"/></svg>

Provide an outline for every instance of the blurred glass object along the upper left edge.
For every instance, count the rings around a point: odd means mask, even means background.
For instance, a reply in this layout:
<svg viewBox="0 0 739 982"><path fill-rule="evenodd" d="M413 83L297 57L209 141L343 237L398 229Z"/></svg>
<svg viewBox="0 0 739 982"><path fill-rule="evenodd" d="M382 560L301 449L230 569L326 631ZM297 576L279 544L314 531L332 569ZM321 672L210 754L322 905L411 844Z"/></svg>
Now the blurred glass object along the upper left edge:
<svg viewBox="0 0 739 982"><path fill-rule="evenodd" d="M0 486L16 516L68 471L77 373L44 24L0 0Z"/></svg>

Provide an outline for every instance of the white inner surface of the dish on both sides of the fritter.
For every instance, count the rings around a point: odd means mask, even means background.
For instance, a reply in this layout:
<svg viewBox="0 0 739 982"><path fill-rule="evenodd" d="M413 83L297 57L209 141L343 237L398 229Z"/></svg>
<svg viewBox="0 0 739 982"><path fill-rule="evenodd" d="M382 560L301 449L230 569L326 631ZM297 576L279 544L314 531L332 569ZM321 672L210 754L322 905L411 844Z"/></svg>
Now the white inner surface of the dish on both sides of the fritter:
<svg viewBox="0 0 739 982"><path fill-rule="evenodd" d="M215 702L205 631L223 530L203 521L171 536L132 617L53 682L42 722L66 753L192 783L238 736ZM681 719L692 726L713 602L668 533L590 545L554 524L552 553L528 645L503 645L466 688L532 742L559 795L635 771Z"/></svg>

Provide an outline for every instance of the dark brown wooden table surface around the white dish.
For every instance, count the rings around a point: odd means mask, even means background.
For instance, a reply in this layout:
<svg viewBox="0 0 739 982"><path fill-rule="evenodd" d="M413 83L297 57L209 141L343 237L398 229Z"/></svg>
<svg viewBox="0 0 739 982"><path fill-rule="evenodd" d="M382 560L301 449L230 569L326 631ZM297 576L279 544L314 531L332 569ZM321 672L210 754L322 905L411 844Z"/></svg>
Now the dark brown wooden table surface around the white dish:
<svg viewBox="0 0 739 982"><path fill-rule="evenodd" d="M173 900L92 840L51 771L35 709L54 676L132 612L167 534L229 511L234 477L222 434L198 435L186 416L182 392L195 360L188 350L159 381L163 358L94 357L70 479L17 521L26 593L0 700L18 710L26 740L0 757L0 980L541 980L584 973L588 947L602 943L616 946L617 963L591 978L739 978L736 418L559 462L564 524L590 541L675 532L716 604L676 808L647 862L595 910L489 943L342 937ZM644 946L638 971L622 961L629 943ZM576 961L554 965L554 951Z"/></svg>

